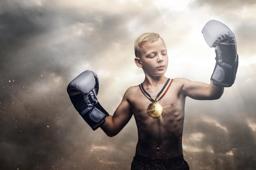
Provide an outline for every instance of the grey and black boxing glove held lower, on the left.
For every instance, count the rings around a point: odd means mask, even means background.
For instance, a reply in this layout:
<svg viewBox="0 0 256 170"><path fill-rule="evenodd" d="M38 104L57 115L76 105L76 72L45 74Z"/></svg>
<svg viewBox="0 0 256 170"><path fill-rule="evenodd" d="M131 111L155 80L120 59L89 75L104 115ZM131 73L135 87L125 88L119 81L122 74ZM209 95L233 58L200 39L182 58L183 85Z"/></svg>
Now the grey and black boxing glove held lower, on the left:
<svg viewBox="0 0 256 170"><path fill-rule="evenodd" d="M67 86L67 93L78 113L86 123L96 130L104 122L108 112L99 104L97 94L99 79L96 73L86 70Z"/></svg>

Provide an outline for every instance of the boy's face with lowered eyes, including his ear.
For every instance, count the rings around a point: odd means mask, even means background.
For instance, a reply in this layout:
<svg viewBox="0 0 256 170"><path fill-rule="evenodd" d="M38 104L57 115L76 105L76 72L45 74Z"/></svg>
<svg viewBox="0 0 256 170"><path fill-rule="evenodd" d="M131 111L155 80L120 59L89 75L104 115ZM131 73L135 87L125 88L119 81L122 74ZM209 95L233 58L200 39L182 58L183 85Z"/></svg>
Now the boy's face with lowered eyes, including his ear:
<svg viewBox="0 0 256 170"><path fill-rule="evenodd" d="M144 72L152 76L163 75L168 66L167 49L162 38L153 43L143 44L140 48L141 57L135 57L135 63Z"/></svg>

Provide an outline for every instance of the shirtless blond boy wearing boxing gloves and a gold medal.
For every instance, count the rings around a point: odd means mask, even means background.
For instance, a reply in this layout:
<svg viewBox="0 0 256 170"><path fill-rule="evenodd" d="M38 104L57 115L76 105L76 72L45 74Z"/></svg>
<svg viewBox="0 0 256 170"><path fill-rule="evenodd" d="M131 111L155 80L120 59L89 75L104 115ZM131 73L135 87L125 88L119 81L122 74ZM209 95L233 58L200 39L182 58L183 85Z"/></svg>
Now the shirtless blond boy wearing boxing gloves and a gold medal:
<svg viewBox="0 0 256 170"><path fill-rule="evenodd" d="M97 100L99 82L94 72L85 71L70 82L70 99L93 130L100 127L113 137L134 115L138 143L131 170L189 170L182 152L185 99L219 99L224 87L234 83L238 66L236 40L227 26L211 20L202 33L207 44L216 49L217 62L210 84L165 77L167 49L156 33L144 33L135 41L135 64L143 69L145 79L127 89L113 115Z"/></svg>

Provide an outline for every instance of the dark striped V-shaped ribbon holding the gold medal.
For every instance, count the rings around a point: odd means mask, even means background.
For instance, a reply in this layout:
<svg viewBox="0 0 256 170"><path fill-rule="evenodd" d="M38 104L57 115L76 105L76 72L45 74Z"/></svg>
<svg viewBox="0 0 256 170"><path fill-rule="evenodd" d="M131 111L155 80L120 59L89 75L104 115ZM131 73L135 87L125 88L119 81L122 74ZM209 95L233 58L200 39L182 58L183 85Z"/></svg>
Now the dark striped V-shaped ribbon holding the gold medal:
<svg viewBox="0 0 256 170"><path fill-rule="evenodd" d="M171 80L171 81L170 81ZM157 102L160 99L162 99L164 97L164 95L166 94L166 92L168 91L169 87L171 86L171 83L173 82L173 79L168 79L166 81L166 83L164 84L164 87L162 88L162 90L157 94L157 97L154 99L152 99L152 97L150 96L150 94L148 94L148 92L146 92L146 90L143 87L143 84L141 83L139 85L140 90L142 91L142 93L152 102Z"/></svg>

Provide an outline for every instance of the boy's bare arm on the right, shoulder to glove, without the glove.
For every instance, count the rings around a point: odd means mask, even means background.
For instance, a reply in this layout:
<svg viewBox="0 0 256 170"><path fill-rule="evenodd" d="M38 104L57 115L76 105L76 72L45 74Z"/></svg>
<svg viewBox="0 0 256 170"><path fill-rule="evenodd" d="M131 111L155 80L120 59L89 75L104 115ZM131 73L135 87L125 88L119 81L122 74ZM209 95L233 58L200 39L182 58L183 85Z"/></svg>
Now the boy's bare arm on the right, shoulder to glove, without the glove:
<svg viewBox="0 0 256 170"><path fill-rule="evenodd" d="M215 100L219 99L224 92L224 87L216 86L211 80L210 84L202 82L192 82L189 79L182 78L182 92L185 96L197 100Z"/></svg>

